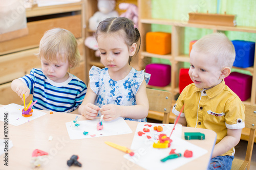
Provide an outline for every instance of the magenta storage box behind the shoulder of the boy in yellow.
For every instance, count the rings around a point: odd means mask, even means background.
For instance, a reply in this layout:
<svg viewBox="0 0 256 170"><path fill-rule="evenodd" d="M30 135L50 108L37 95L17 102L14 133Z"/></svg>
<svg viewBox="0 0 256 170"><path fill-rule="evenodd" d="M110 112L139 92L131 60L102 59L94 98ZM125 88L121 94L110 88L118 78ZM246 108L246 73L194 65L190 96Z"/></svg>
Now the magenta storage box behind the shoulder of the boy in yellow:
<svg viewBox="0 0 256 170"><path fill-rule="evenodd" d="M251 97L252 76L239 72L231 72L230 75L225 78L225 83L239 96L241 101L246 101Z"/></svg>

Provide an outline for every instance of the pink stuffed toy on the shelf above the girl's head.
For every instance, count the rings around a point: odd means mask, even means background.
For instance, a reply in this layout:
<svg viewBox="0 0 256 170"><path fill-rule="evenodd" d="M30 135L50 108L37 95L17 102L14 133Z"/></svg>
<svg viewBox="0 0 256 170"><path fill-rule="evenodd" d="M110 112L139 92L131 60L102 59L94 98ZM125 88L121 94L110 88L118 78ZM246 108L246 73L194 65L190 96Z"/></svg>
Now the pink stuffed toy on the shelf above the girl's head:
<svg viewBox="0 0 256 170"><path fill-rule="evenodd" d="M119 9L125 10L120 17L126 17L134 21L136 27L138 28L138 7L134 4L120 3Z"/></svg>

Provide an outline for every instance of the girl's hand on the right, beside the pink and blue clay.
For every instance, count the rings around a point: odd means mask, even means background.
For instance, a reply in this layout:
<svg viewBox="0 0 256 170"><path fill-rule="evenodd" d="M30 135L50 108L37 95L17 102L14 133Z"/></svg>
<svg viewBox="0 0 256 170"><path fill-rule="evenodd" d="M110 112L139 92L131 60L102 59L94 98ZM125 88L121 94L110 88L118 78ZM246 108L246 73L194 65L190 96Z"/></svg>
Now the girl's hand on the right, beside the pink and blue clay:
<svg viewBox="0 0 256 170"><path fill-rule="evenodd" d="M119 108L120 106L117 105L104 105L99 111L101 114L104 114L103 119L105 121L110 121L120 117L121 110Z"/></svg>

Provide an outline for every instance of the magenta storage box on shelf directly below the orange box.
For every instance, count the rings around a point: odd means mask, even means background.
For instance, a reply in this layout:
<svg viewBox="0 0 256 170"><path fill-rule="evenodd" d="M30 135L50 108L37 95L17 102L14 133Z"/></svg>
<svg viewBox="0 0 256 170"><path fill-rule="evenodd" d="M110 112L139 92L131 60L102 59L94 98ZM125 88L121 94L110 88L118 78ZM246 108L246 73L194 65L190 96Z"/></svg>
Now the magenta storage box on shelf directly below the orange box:
<svg viewBox="0 0 256 170"><path fill-rule="evenodd" d="M151 74L148 85L163 87L170 84L170 65L168 64L148 64L145 72Z"/></svg>

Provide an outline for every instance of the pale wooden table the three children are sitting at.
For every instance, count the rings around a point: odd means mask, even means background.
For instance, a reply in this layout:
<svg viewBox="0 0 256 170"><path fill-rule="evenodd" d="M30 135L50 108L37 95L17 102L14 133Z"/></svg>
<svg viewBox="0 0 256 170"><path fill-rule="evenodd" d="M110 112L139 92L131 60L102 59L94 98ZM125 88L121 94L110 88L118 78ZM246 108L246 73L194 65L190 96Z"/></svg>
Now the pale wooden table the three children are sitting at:
<svg viewBox="0 0 256 170"><path fill-rule="evenodd" d="M143 169L125 159L125 153L104 143L112 141L131 147L138 122L126 121L133 131L130 134L71 140L65 123L74 120L77 115L44 112L47 114L20 126L8 125L9 140L12 140L13 147L8 151L8 166L4 165L4 155L1 155L0 169ZM85 118L80 116L80 120ZM4 123L0 121L0 125L0 138L3 139ZM208 152L178 169L207 169L216 133L207 129L182 127L183 139L184 132L204 133L205 140L188 141ZM48 141L49 136L53 136L52 141ZM35 149L48 152L49 155L40 167L31 168L30 161ZM78 161L82 167L67 165L72 155L79 156Z"/></svg>

